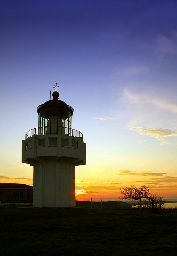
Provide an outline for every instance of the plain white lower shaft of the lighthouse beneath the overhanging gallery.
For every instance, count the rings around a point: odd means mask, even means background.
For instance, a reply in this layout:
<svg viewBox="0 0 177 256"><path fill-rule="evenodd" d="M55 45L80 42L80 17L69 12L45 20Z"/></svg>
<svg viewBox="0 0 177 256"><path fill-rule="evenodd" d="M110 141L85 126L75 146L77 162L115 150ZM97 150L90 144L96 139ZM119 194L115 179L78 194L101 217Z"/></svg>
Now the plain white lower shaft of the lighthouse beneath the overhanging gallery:
<svg viewBox="0 0 177 256"><path fill-rule="evenodd" d="M74 165L43 160L34 165L33 207L75 207Z"/></svg>

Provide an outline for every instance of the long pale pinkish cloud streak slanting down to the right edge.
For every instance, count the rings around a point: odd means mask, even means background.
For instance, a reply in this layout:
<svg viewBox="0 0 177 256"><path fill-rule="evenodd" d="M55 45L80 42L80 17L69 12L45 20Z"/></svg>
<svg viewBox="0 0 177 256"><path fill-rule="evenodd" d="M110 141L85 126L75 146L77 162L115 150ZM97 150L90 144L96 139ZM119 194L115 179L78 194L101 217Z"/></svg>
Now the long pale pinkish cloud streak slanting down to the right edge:
<svg viewBox="0 0 177 256"><path fill-rule="evenodd" d="M145 104L150 103L155 105L158 108L165 109L174 113L177 113L177 105L173 104L167 100L160 98L154 98L152 95L147 95L147 92L144 93L133 93L128 89L124 89L124 96L127 97L133 104Z"/></svg>

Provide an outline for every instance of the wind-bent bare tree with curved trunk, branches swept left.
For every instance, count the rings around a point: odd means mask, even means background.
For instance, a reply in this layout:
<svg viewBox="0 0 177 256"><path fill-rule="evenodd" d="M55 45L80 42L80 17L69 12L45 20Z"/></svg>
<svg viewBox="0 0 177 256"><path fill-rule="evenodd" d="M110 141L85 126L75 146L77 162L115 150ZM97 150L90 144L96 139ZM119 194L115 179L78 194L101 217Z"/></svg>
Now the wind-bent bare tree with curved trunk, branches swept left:
<svg viewBox="0 0 177 256"><path fill-rule="evenodd" d="M155 212L155 205L154 205L154 196L151 195L149 187L147 185L141 185L139 188L136 186L126 187L120 189L120 193L122 194L123 199L128 199L131 201L136 201L140 199L148 199L151 204L152 212Z"/></svg>

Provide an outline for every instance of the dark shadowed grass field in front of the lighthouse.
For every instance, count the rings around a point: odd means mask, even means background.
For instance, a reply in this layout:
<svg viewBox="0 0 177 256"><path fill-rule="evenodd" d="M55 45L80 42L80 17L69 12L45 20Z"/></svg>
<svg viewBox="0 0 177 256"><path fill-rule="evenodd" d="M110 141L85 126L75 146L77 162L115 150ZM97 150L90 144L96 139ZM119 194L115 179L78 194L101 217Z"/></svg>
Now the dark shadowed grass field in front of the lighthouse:
<svg viewBox="0 0 177 256"><path fill-rule="evenodd" d="M0 206L4 255L173 256L177 210L34 209Z"/></svg>

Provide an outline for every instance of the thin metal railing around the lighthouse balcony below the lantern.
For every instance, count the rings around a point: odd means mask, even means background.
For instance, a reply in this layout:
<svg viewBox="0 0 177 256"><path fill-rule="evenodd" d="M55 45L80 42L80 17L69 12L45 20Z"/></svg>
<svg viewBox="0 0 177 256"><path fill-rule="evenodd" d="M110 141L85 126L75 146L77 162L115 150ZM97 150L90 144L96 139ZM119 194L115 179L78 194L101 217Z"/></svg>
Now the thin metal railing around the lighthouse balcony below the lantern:
<svg viewBox="0 0 177 256"><path fill-rule="evenodd" d="M83 137L83 134L80 131L69 129L67 127L61 127L61 126L44 126L40 128L33 128L26 132L26 138L28 139L32 137L32 135L45 135L45 134L64 134L69 135L77 138Z"/></svg>

